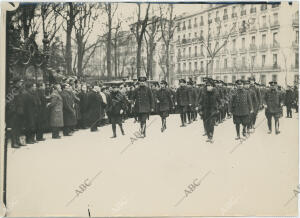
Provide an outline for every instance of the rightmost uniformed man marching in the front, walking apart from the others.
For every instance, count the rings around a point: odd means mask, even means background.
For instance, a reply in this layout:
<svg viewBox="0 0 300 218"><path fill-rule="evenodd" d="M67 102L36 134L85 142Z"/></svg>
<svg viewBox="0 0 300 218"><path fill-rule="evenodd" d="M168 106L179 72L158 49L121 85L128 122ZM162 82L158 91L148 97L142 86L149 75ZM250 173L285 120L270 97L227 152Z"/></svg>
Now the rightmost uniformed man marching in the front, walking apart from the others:
<svg viewBox="0 0 300 218"><path fill-rule="evenodd" d="M274 117L275 120L275 133L276 135L280 133L279 131L279 118L281 116L282 111L282 95L277 90L277 82L271 81L269 82L270 89L265 94L265 101L266 101L266 110L265 115L268 120L268 128L269 128L269 134L272 133L272 117Z"/></svg>

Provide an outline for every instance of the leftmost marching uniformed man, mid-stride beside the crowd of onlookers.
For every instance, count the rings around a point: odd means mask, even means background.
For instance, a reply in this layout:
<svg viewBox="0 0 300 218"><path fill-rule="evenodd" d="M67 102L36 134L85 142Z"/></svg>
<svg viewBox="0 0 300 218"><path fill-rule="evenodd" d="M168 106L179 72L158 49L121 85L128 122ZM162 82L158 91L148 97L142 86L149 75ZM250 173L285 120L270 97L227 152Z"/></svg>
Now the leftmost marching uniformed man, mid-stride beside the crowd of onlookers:
<svg viewBox="0 0 300 218"><path fill-rule="evenodd" d="M127 100L119 91L117 85L113 85L113 91L111 92L111 105L108 109L110 114L110 121L112 125L113 136L111 138L117 137L116 124L119 125L122 135L125 135L122 126L122 114L127 110Z"/></svg>

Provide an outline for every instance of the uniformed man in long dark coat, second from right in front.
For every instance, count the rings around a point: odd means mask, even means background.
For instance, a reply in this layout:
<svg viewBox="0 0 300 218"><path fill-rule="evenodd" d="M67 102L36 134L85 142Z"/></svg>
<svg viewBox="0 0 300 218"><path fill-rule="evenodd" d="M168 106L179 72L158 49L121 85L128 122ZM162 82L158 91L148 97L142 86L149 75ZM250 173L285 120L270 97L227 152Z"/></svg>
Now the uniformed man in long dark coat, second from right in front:
<svg viewBox="0 0 300 218"><path fill-rule="evenodd" d="M230 112L233 115L233 123L236 129L236 140L240 139L240 125L243 125L243 136L246 136L246 127L249 115L253 111L250 93L243 88L241 80L236 81L237 90L232 96Z"/></svg>

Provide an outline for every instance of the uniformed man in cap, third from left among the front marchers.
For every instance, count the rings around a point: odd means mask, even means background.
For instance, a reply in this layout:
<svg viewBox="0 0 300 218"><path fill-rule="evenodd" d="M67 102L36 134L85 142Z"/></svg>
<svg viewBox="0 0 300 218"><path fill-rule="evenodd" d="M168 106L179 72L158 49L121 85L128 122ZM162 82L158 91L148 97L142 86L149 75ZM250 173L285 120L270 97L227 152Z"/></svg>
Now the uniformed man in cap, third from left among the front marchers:
<svg viewBox="0 0 300 218"><path fill-rule="evenodd" d="M167 89L168 83L165 80L160 82L161 88L157 91L157 109L161 117L161 132L167 129L167 120L170 111L174 108L171 92Z"/></svg>

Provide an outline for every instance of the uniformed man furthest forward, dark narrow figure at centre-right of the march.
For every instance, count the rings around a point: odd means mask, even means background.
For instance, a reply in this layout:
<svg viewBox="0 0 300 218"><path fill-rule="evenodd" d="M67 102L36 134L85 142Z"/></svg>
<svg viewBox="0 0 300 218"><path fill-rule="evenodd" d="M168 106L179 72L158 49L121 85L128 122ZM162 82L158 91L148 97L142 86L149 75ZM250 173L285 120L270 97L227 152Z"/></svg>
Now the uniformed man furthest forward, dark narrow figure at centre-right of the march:
<svg viewBox="0 0 300 218"><path fill-rule="evenodd" d="M205 80L199 102L199 113L203 119L203 126L207 135L207 142L213 143L215 119L218 114L218 94L212 79Z"/></svg>

